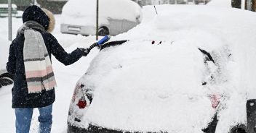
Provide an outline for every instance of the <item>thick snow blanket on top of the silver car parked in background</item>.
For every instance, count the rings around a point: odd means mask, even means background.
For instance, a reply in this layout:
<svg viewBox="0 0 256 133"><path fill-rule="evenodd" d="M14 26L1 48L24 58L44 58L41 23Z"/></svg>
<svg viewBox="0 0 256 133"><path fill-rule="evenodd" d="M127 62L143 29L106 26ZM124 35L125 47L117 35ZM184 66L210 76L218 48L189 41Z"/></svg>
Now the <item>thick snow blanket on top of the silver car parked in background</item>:
<svg viewBox="0 0 256 133"><path fill-rule="evenodd" d="M99 24L108 24L108 18L136 22L141 18L138 4L130 0L100 0ZM69 0L63 7L61 22L71 25L92 25L96 23L96 0Z"/></svg>

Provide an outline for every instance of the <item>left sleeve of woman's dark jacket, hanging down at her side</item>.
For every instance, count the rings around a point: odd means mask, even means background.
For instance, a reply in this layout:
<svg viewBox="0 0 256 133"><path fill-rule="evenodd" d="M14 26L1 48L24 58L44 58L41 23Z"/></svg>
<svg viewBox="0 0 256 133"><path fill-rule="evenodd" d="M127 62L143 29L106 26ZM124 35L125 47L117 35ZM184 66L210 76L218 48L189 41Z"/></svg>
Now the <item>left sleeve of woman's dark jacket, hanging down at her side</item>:
<svg viewBox="0 0 256 133"><path fill-rule="evenodd" d="M13 40L11 46L9 46L9 58L7 62L7 72L13 75L15 74L15 69L16 69L16 56L15 56L14 43L15 43L15 40Z"/></svg>

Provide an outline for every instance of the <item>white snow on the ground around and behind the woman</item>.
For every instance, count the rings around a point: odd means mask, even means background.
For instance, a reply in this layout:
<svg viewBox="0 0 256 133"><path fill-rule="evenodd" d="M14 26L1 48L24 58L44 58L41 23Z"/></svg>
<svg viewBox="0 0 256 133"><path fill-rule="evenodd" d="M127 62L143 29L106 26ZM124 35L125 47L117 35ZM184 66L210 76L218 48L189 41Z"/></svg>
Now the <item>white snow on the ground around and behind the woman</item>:
<svg viewBox="0 0 256 133"><path fill-rule="evenodd" d="M53 35L59 43L65 48L66 51L73 51L77 47L87 48L89 45L94 43L95 36L84 37L82 35L66 35L60 33L60 15L56 15L56 27ZM13 18L12 20L12 37L15 38L17 29L22 25L21 19ZM9 51L6 51L6 45L10 42L8 38L8 19L0 18L0 68L4 68L6 64L1 63L6 61ZM77 80L86 72L89 62L98 53L98 49L93 49L87 57L82 57L79 61L71 66L64 66L52 56L53 69L55 71L55 77L57 80L57 88L55 89L56 101L53 106L53 133L65 133L66 122L68 116L68 107L73 94L73 89L76 85ZM0 89L0 132L13 133L15 132L15 112L12 109L12 85L7 87L1 87ZM4 108L4 109L3 109ZM37 117L39 112L37 109L33 113L33 121L31 123L31 133L36 133L39 127Z"/></svg>

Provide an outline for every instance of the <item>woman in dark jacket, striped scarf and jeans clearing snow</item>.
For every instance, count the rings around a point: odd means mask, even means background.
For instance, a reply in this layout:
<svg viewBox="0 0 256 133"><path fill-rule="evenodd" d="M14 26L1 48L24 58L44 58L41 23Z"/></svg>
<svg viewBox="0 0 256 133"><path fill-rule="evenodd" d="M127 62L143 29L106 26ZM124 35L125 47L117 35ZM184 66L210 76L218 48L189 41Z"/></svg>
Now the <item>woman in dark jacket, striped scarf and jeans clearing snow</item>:
<svg viewBox="0 0 256 133"><path fill-rule="evenodd" d="M87 56L89 49L77 48L66 53L50 33L55 20L46 9L28 7L23 13L23 23L9 48L7 63L7 71L14 75L12 108L15 108L16 132L29 132L33 108L39 108L39 132L48 133L56 87L51 55L69 65Z"/></svg>

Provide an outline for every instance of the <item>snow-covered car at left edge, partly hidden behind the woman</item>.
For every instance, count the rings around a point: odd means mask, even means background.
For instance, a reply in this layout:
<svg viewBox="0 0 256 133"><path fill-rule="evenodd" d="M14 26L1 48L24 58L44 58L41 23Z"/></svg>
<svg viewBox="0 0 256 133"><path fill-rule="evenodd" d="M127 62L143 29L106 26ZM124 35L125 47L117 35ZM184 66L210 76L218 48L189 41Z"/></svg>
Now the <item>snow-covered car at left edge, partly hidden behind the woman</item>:
<svg viewBox="0 0 256 133"><path fill-rule="evenodd" d="M0 87L10 85L13 82L12 74L7 72L6 66L9 55L9 41L4 41L4 38L1 38L0 41Z"/></svg>

